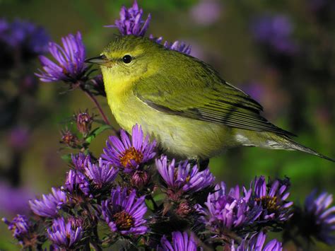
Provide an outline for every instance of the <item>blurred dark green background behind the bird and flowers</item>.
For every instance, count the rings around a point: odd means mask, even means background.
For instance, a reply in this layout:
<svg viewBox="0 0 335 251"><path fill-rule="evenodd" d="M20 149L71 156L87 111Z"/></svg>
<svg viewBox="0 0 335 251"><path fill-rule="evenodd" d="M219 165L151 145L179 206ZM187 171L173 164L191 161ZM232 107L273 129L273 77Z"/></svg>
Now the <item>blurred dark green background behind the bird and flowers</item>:
<svg viewBox="0 0 335 251"><path fill-rule="evenodd" d="M122 4L131 6L132 1L0 0L0 18L42 25L55 42L80 30L87 56L93 57L117 34L103 25L114 23ZM195 57L258 100L271 122L298 134L300 143L335 158L334 1L146 0L139 5L145 16L152 15L148 34L189 43ZM275 30L273 35L269 29ZM38 60L26 67L33 73ZM1 92L14 92L17 81L12 79L0 78ZM1 127L0 132L1 173L8 173L8 168L20 172L16 182L6 175L0 180L0 215L8 218L24 212L26 200L34 194L47 193L64 182L68 167L60 156L68 151L60 149L59 132L68 118L86 108L98 114L81 91L64 93L64 83L34 79L37 91L20 101L18 122ZM106 100L100 98L100 103L112 119ZM1 108L11 110L10 106ZM11 143L17 127L26 129L20 153ZM108 134L93 142L96 155L102 152ZM334 163L305 153L237 148L212 159L210 166L217 180L228 185L249 185L255 175L287 175L292 182L290 198L297 203L303 203L315 188L335 192ZM1 223L0 250L18 249L12 243L11 233Z"/></svg>

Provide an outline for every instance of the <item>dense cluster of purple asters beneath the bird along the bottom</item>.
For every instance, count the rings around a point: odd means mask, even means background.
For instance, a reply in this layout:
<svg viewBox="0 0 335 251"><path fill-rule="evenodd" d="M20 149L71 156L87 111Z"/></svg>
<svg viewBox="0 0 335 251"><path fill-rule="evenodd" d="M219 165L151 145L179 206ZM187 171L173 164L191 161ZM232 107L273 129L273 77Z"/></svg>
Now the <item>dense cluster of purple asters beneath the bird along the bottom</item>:
<svg viewBox="0 0 335 251"><path fill-rule="evenodd" d="M131 137L123 130L119 137L110 137L98 160L89 154L72 155L64 186L29 202L38 216L35 223L25 216L4 219L23 247L37 247L47 237L53 247L68 250L87 243L99 249L102 243L110 245L118 239L157 250L283 249L278 240L265 240L268 231L291 228L295 211L293 203L286 201L287 178L266 182L263 176L256 177L249 189L227 189L224 182L213 187L208 168L199 170L187 160L176 163L167 156L155 158L155 141L151 143L138 124L131 132ZM327 193L307 197L305 209L295 214L314 229L296 233L334 244L331 202ZM110 230L102 239L100 225Z"/></svg>

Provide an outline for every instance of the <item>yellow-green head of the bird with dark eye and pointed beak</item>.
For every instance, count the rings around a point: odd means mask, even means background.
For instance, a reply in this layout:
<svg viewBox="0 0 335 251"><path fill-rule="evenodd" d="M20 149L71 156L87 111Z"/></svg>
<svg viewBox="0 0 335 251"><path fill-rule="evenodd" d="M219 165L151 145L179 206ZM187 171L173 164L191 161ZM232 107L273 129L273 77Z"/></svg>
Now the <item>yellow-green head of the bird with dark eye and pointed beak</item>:
<svg viewBox="0 0 335 251"><path fill-rule="evenodd" d="M150 76L163 62L162 45L146 37L127 35L110 42L99 57L86 62L99 64L105 85L134 82Z"/></svg>

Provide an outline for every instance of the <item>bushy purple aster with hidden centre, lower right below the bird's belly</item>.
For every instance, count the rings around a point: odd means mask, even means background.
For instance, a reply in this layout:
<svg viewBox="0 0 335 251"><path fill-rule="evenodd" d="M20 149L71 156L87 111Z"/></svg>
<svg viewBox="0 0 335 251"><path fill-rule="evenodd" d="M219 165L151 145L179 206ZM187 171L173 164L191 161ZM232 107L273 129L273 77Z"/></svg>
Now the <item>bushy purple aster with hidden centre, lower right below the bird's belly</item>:
<svg viewBox="0 0 335 251"><path fill-rule="evenodd" d="M215 191L208 194L206 209L197 205L201 221L218 235L226 230L238 230L253 223L261 214L259 206L250 207L252 190L243 187L243 195L240 194L238 186L227 192L225 183L216 185Z"/></svg>

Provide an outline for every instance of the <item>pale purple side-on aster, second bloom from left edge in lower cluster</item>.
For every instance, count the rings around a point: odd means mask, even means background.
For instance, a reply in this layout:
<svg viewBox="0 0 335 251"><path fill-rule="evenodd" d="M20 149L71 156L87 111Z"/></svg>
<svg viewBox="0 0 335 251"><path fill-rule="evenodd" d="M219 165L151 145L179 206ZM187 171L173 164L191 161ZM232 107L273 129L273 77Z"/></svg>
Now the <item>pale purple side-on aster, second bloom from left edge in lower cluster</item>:
<svg viewBox="0 0 335 251"><path fill-rule="evenodd" d="M39 216L55 217L58 216L62 204L68 202L66 193L59 188L52 187L51 194L42 194L42 199L30 200L30 209Z"/></svg>

